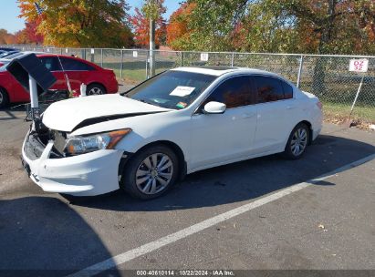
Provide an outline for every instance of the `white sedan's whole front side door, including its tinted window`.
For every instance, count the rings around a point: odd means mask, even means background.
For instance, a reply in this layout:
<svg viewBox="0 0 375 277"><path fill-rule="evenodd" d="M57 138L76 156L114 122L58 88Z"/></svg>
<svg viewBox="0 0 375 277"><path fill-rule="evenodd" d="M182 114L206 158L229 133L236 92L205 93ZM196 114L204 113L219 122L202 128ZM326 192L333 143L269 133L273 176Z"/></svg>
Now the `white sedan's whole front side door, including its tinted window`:
<svg viewBox="0 0 375 277"><path fill-rule="evenodd" d="M204 105L226 105L224 114L204 114ZM203 169L249 156L256 129L249 76L231 77L216 87L192 117L192 168Z"/></svg>

